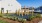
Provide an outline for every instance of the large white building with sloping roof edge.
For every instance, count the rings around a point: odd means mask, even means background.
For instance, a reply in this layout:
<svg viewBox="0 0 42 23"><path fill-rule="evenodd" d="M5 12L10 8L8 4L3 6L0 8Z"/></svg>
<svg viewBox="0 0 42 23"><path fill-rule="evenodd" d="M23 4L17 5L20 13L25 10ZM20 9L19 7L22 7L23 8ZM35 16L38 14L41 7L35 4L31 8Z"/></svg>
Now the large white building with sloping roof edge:
<svg viewBox="0 0 42 23"><path fill-rule="evenodd" d="M16 10L21 10L21 4L16 0L0 0L0 12L15 13Z"/></svg>

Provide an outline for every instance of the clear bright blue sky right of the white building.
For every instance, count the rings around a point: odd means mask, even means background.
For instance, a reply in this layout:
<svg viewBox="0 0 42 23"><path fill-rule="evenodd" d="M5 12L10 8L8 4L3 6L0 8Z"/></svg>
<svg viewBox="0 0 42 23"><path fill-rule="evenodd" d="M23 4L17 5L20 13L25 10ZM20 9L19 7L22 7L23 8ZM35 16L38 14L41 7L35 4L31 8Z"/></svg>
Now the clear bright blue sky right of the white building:
<svg viewBox="0 0 42 23"><path fill-rule="evenodd" d="M22 6L39 7L42 6L42 0L17 0Z"/></svg>

